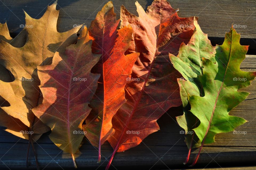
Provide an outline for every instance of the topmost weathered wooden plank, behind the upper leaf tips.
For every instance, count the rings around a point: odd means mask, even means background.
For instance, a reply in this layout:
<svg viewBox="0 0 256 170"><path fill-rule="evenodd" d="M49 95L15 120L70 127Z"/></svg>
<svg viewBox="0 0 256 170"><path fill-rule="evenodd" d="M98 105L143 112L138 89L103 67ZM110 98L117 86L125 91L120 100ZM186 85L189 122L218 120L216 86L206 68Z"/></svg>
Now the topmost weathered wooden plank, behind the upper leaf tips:
<svg viewBox="0 0 256 170"><path fill-rule="evenodd" d="M61 9L58 30L60 32L67 31L73 27L73 24L85 23L89 26L106 2L102 0L94 0L93 2L87 0L58 1L58 9ZM113 0L117 18L119 18L121 5L124 5L133 14L138 15L135 2L136 0ZM138 2L146 8L152 0L138 0ZM2 0L0 2L0 22L3 23L7 20L10 31L19 32L22 29L19 28L19 25L25 23L25 15L22 9L31 17L40 18L49 3L51 4L53 1ZM181 17L198 16L202 30L208 33L210 37L224 37L225 32L229 31L233 23L234 27L238 27L236 29L241 32L243 38L256 39L255 0L232 1L232 3L229 0L173 0L171 6L179 8L178 13Z"/></svg>

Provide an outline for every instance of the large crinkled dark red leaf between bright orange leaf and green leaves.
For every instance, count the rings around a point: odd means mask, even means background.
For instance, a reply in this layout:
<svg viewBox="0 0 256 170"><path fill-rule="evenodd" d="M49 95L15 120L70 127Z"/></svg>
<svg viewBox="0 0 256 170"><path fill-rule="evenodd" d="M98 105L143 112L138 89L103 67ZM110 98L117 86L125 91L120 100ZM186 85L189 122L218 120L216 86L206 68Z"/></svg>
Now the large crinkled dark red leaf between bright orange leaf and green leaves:
<svg viewBox="0 0 256 170"><path fill-rule="evenodd" d="M180 18L165 0L155 0L147 12L135 3L139 16L121 7L121 27L133 28L133 39L126 54L139 52L131 79L125 87L127 102L113 117L115 133L108 139L114 153L141 143L158 131L157 120L171 107L181 105L177 78L181 75L169 60L169 52L177 54L182 42L193 35L194 17Z"/></svg>

